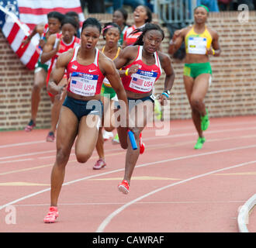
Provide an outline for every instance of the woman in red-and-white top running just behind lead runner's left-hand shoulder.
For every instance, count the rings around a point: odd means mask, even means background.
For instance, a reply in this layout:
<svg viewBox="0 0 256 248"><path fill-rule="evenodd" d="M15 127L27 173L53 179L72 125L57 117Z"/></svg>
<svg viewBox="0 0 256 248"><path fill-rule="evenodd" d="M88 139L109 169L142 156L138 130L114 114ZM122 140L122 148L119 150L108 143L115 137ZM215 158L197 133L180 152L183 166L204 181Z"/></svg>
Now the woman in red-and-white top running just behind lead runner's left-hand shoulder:
<svg viewBox="0 0 256 248"><path fill-rule="evenodd" d="M78 23L75 22L71 17L65 17L61 22L61 33L56 33L49 37L46 45L43 47L43 53L41 55L41 61L50 60L50 67L48 68L47 74L47 84L50 79L50 73L55 67L57 57L61 53L67 52L74 47L78 47L80 44L80 39L75 36ZM67 84L67 76L62 79L61 85ZM53 142L55 139L55 130L57 126L57 121L59 119L59 113L61 110L61 105L64 100L60 101L54 98L54 95L50 95L51 102L53 103L51 109L51 127L50 132L47 135L47 141Z"/></svg>

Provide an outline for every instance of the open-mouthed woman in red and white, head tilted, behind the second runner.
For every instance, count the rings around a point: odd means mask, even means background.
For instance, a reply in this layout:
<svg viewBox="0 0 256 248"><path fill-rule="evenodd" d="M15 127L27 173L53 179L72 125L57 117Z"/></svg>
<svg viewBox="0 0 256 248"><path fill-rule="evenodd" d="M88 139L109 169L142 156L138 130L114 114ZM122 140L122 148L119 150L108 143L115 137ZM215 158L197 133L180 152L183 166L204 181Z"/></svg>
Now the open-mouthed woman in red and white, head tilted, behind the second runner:
<svg viewBox="0 0 256 248"><path fill-rule="evenodd" d="M123 35L123 47L132 46L141 33L133 33L135 29L141 29L147 22L152 21L152 13L147 6L139 5L133 12L134 25L126 29Z"/></svg>

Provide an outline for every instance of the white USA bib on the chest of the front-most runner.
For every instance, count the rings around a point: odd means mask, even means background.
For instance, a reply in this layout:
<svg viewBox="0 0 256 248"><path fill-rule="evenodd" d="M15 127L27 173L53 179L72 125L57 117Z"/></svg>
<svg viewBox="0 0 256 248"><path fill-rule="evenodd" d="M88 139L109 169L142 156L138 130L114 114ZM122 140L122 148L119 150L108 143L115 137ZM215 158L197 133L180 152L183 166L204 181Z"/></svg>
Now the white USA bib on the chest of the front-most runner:
<svg viewBox="0 0 256 248"><path fill-rule="evenodd" d="M72 72L70 91L82 96L93 96L96 92L98 75Z"/></svg>

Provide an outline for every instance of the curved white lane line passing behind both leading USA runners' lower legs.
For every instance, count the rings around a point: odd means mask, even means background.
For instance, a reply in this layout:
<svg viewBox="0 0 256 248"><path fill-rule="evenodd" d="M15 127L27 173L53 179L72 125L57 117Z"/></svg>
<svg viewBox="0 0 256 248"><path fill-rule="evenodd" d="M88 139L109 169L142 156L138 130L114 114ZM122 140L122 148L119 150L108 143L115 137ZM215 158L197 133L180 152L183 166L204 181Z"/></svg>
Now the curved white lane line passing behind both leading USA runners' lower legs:
<svg viewBox="0 0 256 248"><path fill-rule="evenodd" d="M230 148L230 149L225 149L225 150L216 150L216 151L208 152L208 153L199 153L199 154L195 154L195 155L188 155L188 156L183 156L183 157L175 157L175 158L171 158L171 159L168 159L168 160L160 160L160 161L158 160L158 161L150 162L150 163L147 163L147 164L140 164L140 165L137 165L137 167L146 167L146 166L151 165L151 164L163 164L165 162L171 162L171 161L175 161L175 160L184 160L184 159L189 159L189 158L192 158L192 157L201 157L201 156L206 156L206 155L210 155L210 154L225 153L225 152L230 152L230 151L234 151L234 150L243 150L243 149L248 149L248 148L252 148L252 147L256 147L256 145L240 146L240 147ZM68 182L66 182L66 183L64 183L62 185L63 186L70 185L70 184L77 183L79 181L85 181L87 179L91 179L91 178L94 178L94 177L101 177L101 176L105 176L105 175L116 173L116 172L120 172L120 171L124 171L124 168L113 170L113 171L104 172L104 173L101 173L101 174L95 174L95 175L91 175L91 176L88 176L88 177L81 177L81 178L78 178L78 179L75 179L75 180L72 180L72 181L68 181ZM40 194L42 194L44 192L47 192L47 191L50 191L50 188L45 188L45 189L43 189L41 191L37 191L37 192L35 192L33 194L25 195L22 198L18 198L16 200L12 201L12 202L8 202L5 205L0 206L0 210L2 208L5 208L5 207L9 206L9 205L13 205L16 202L21 202L22 200L26 200L27 198L31 198L31 197L36 196L36 195L40 195Z"/></svg>

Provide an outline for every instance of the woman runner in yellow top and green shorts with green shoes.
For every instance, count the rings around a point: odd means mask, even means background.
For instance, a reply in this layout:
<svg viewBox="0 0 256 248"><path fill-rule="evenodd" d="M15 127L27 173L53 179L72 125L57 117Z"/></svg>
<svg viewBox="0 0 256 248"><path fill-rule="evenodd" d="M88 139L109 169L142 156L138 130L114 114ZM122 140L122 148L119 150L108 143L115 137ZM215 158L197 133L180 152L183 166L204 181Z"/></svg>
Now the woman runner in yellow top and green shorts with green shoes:
<svg viewBox="0 0 256 248"><path fill-rule="evenodd" d="M201 149L206 138L202 131L209 126L208 111L204 98L211 84L212 68L209 55L220 56L219 36L213 29L206 26L209 10L199 5L194 10L195 23L184 29L176 30L169 45L168 52L174 54L185 41L184 84L185 91L192 108L192 119L199 134L195 149Z"/></svg>

